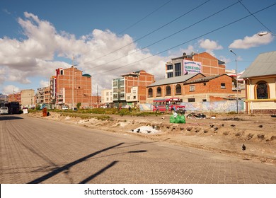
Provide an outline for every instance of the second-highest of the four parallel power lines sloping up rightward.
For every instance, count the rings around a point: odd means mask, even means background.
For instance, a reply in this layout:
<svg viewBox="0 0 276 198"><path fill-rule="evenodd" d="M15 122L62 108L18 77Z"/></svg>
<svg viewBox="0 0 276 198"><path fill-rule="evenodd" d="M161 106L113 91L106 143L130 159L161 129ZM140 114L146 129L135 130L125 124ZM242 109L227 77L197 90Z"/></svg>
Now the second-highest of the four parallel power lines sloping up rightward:
<svg viewBox="0 0 276 198"><path fill-rule="evenodd" d="M129 44L127 44L127 45L125 45L125 46L123 46L123 47L120 47L120 48L118 48L117 50L114 50L113 52L109 52L108 54L105 54L105 55L103 55L103 56L101 56L101 57L98 57L98 58L96 58L96 59L93 59L93 60L91 60L91 61L89 61L89 62L93 62L93 61L96 61L96 60L98 60L98 59L100 59L100 58L106 57L106 56L108 56L109 54L113 54L114 52L117 52L117 51L122 50L123 48L125 48L125 47L127 47L127 46L129 46L129 45L132 45L134 42L137 42L138 40L142 40L144 37L146 37L146 36L148 36L148 35L151 35L152 33L155 33L156 31L160 30L161 28L166 27L166 25L169 25L169 24L173 23L174 21L178 20L179 18L182 18L183 16L187 15L188 13L190 13L190 12L192 12L192 11L195 11L197 8L200 8L200 6L203 6L204 4L207 4L208 1L211 1L211 0L207 0L207 1L203 2L203 3L200 4L199 6L196 6L195 8L192 8L190 11L188 11L188 12L186 12L186 13L183 13L183 15L178 16L177 18L173 19L173 21L170 21L170 22L166 23L165 25L162 25L161 27L157 28L156 30L151 31L150 33L147 33L146 35L144 35L144 36L142 36L142 37L139 37L137 40L134 40L133 42L130 42ZM88 63L88 62L85 62L84 64L87 64L87 63Z"/></svg>

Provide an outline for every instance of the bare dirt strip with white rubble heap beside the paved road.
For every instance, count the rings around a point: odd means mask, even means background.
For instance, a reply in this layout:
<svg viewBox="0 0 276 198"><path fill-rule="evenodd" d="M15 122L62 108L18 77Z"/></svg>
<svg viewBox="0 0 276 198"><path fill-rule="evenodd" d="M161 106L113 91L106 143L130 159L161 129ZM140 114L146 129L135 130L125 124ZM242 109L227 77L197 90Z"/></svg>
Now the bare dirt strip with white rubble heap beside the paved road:
<svg viewBox="0 0 276 198"><path fill-rule="evenodd" d="M170 123L170 115L109 115L108 120L96 117L81 119L57 112L51 112L48 117L42 117L42 113L31 113L28 116L142 136L152 141L166 141L178 146L190 146L243 160L276 165L276 117L270 115L207 115L205 119L186 118L185 124ZM242 149L243 144L245 150Z"/></svg>

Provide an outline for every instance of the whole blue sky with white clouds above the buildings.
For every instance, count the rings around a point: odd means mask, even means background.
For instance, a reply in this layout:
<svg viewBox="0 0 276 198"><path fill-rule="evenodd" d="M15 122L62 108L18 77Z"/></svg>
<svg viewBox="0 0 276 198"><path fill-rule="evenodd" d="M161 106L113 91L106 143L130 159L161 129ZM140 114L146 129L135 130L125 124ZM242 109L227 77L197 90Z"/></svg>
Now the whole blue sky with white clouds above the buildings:
<svg viewBox="0 0 276 198"><path fill-rule="evenodd" d="M209 52L226 69L246 69L276 49L276 1L0 0L0 93L47 86L55 69L92 75L93 94L111 78L144 69L165 77L165 64L186 52Z"/></svg>

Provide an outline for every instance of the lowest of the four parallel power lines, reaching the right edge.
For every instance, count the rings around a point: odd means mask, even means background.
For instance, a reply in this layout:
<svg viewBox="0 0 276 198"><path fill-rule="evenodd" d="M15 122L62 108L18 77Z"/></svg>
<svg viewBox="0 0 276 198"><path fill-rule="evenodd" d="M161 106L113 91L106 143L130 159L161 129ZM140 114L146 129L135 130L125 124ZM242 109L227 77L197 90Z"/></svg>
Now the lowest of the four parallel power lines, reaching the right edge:
<svg viewBox="0 0 276 198"><path fill-rule="evenodd" d="M266 10L267 8L270 8L270 7L275 6L275 5L276 5L276 3L275 3L275 4L272 4L272 5L270 5L270 6L267 6L267 7L263 8L263 9L260 9L259 11L256 11L255 13L259 13L259 12L264 11L264 10ZM255 13L253 13L253 14L255 14ZM240 19L238 19L238 20L236 20L236 21L233 21L233 22L231 22L231 23L228 23L228 24L226 24L226 25L222 25L222 26L219 27L219 28L216 28L216 29L214 29L214 30L211 30L211 31L209 31L208 33L205 33L205 34L203 34L203 35L200 35L200 36L198 36L198 37L195 37L195 38L193 38L193 39L191 39L191 40L188 40L188 41L186 41L186 42L180 43L179 45L176 45L176 46L174 46L174 47L168 48L167 50L163 50L162 52L153 54L153 55L151 55L151 56L149 56L149 57L145 57L144 59L139 59L138 61L132 62L132 63L130 63L130 64L125 64L125 65L123 65L123 66L119 66L119 67L117 67L117 68L115 68L115 69L110 69L110 70L107 70L107 71L100 72L100 73L98 73L98 74L104 74L104 73L106 73L106 72L108 72L108 71L114 71L114 70L116 70L116 69L120 69L120 68L122 68L122 67L130 66L130 65L135 64L135 63L137 63L137 62L141 62L141 61L143 61L143 60L145 60L145 59L149 59L149 58L151 58L151 57L155 57L155 56L158 55L158 54L162 54L163 52L167 52L168 50L173 50L174 48L179 47L180 45L184 45L184 44L186 44L186 43L188 43L188 42L192 42L193 40L197 40L197 39L199 39L200 37L203 37L203 36L205 36L205 35L209 35L210 33L214 33L214 32L216 32L217 30L221 30L222 28L225 28L225 27L227 27L227 26L229 26L229 25L232 25L232 24L234 24L234 23L237 23L238 21L241 21L241 20L243 20L243 19L245 19L245 18L248 18L249 16L251 16L251 14L249 14L248 16L244 16L243 18L240 18ZM93 76L96 76L96 75L98 75L98 74L94 74Z"/></svg>

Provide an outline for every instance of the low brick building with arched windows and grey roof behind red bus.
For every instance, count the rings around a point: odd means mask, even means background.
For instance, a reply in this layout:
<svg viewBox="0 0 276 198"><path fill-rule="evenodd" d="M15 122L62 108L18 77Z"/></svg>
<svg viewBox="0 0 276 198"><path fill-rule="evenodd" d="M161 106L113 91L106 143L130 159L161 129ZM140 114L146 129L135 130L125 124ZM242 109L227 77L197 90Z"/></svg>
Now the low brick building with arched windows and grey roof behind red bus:
<svg viewBox="0 0 276 198"><path fill-rule="evenodd" d="M183 102L234 99L236 91L232 89L232 80L226 74L205 76L200 73L165 78L146 87L146 103L152 103L154 98L172 97L178 97Z"/></svg>

